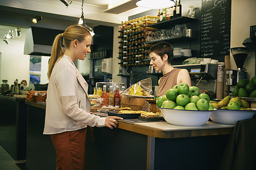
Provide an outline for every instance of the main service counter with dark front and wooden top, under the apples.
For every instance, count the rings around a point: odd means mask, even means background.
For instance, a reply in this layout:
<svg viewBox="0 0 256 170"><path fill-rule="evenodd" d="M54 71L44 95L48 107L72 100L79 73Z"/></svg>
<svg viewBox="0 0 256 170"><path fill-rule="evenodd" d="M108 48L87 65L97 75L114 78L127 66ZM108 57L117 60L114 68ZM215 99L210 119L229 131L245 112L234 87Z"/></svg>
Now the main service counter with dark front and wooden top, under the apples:
<svg viewBox="0 0 256 170"><path fill-rule="evenodd" d="M36 151L27 156L27 169L46 169L44 162L48 162L47 169L55 169L51 138L43 135L45 105L27 101L26 104L28 133L33 131L35 137L28 135L27 147L33 139L33 152ZM36 121L30 128L32 117ZM32 130L35 126L37 130ZM165 121L133 122L126 119L118 121L117 129L94 127L93 135L87 128L86 169L217 169L232 130L233 125L214 122L201 127L184 127ZM35 141L40 141L40 148L36 150ZM30 147L27 155L33 153Z"/></svg>

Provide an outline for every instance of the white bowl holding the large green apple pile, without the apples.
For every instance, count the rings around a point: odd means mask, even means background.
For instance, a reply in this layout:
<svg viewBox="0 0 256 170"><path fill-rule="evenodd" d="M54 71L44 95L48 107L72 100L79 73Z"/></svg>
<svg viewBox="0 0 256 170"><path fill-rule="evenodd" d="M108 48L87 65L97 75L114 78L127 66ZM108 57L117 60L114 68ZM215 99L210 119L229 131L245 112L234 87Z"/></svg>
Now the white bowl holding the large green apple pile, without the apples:
<svg viewBox="0 0 256 170"><path fill-rule="evenodd" d="M172 125L201 126L204 125L214 111L185 111L160 108L164 119Z"/></svg>

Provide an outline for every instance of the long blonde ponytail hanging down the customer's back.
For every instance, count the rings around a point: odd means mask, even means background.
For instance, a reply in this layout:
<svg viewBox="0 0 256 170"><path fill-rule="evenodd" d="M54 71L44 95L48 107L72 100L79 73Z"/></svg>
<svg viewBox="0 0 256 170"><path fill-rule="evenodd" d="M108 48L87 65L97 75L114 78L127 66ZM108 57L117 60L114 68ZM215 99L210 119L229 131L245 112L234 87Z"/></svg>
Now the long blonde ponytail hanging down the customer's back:
<svg viewBox="0 0 256 170"><path fill-rule="evenodd" d="M63 36L63 33L59 33L59 35L57 35L55 37L55 40L53 41L53 45L52 45L52 53L51 53L51 58L49 59L49 66L48 66L48 79L50 78L51 74L52 74L52 69L56 63L56 61L63 56L64 54L64 50L61 47L61 37Z"/></svg>

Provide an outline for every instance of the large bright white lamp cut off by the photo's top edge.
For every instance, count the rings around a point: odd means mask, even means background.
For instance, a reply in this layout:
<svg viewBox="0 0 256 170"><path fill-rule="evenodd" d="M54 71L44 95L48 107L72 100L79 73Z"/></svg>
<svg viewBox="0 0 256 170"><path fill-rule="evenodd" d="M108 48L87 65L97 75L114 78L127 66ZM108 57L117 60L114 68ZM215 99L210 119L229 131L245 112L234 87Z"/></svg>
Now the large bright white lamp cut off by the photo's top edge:
<svg viewBox="0 0 256 170"><path fill-rule="evenodd" d="M174 6L175 2L174 0L138 0L136 5L144 8L160 9Z"/></svg>

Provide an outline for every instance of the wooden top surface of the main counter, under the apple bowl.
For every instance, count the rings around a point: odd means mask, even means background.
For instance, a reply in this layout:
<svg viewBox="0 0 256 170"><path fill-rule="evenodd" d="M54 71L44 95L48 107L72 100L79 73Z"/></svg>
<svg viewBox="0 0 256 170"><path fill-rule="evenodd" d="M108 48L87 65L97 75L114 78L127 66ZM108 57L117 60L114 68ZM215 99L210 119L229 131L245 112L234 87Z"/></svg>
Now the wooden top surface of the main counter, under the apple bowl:
<svg viewBox="0 0 256 170"><path fill-rule="evenodd" d="M46 109L46 103L33 103L25 101L26 104ZM107 117L108 113L92 112L101 117ZM138 118L128 118L118 121L117 128L129 130L155 138L184 138L201 137L209 135L228 135L232 132L234 125L222 125L211 121L203 126L176 126L168 124L166 121L147 122Z"/></svg>

